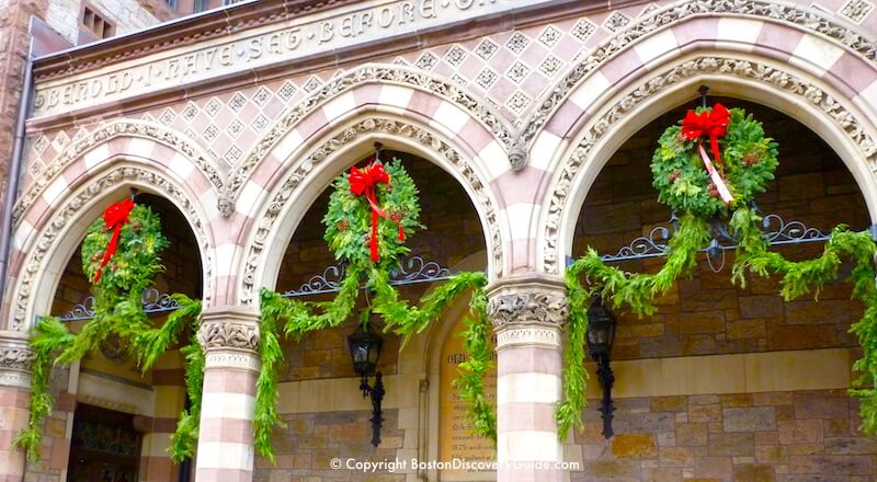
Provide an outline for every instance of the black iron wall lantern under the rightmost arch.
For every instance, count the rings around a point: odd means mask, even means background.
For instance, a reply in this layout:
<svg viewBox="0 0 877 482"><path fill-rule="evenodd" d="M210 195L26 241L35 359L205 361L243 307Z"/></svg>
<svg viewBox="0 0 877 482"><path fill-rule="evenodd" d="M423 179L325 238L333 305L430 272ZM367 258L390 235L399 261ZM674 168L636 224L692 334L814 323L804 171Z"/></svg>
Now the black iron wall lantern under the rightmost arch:
<svg viewBox="0 0 877 482"><path fill-rule="evenodd" d="M594 298L588 309L588 355L596 362L596 377L603 388L600 413L603 417L603 436L606 438L614 435L612 418L615 406L612 404L612 386L615 383L615 375L610 366L610 355L615 341L616 324L615 315L603 306L601 297Z"/></svg>

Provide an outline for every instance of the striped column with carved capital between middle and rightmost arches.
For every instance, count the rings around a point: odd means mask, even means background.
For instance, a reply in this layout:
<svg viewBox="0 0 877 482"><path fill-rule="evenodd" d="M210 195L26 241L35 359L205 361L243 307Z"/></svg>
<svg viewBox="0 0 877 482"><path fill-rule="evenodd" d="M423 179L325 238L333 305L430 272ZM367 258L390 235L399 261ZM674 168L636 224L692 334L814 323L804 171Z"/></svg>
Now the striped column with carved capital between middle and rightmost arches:
<svg viewBox="0 0 877 482"><path fill-rule="evenodd" d="M488 287L497 333L499 482L555 482L563 473L555 406L561 388L562 280L529 274ZM559 466L559 464L558 464Z"/></svg>

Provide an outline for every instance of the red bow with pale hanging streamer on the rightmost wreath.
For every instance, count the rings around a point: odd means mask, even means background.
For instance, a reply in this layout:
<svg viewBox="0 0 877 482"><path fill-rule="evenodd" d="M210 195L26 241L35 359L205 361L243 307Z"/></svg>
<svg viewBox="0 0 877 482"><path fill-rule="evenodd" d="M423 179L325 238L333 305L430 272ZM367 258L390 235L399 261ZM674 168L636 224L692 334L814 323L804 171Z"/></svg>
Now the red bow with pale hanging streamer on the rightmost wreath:
<svg viewBox="0 0 877 482"><path fill-rule="evenodd" d="M731 114L721 104L716 104L709 112L702 112L701 114L696 114L694 111L688 111L685 114L685 118L682 119L682 137L687 140L695 140L697 139L697 150L701 153L701 159L704 160L704 167L706 168L707 172L709 173L709 177L713 180L713 184L716 185L718 188L719 195L725 204L731 204L733 200L733 196L731 196L728 186L725 185L724 176L725 171L722 170L721 165L721 154L719 152L719 137L724 137L727 129L728 124L731 122ZM719 165L719 172L716 172L716 169L713 167L713 162L709 160L709 157L704 150L703 142L701 138L704 136L709 136L709 144L713 148L713 157L716 159L716 163Z"/></svg>

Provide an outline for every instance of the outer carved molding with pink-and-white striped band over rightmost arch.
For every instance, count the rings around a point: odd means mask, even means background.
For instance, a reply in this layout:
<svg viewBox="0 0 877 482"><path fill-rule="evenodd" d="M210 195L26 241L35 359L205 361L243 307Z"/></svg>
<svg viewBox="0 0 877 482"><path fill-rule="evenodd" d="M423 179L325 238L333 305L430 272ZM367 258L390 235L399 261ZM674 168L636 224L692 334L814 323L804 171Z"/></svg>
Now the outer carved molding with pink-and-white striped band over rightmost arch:
<svg viewBox="0 0 877 482"><path fill-rule="evenodd" d="M556 144L543 136L546 129L562 137L563 127L571 127L569 119L593 114L588 107L601 90L615 91L623 78L660 67L661 57L670 54L668 43L675 44L676 54L719 47L756 51L798 67L809 64L810 71L851 99L877 90L877 41L829 12L775 0L683 0L637 19L576 64L547 90L521 129L521 141L531 148L539 141ZM829 65L820 64L827 60ZM610 74L601 79L594 76L599 70Z"/></svg>

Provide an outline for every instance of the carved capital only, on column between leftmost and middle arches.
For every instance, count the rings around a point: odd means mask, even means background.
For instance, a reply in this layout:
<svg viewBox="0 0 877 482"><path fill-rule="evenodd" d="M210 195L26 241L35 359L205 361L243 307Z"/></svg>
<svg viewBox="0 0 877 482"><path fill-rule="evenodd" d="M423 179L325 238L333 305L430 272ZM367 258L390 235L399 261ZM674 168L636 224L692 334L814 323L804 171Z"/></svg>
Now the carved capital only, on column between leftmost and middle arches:
<svg viewBox="0 0 877 482"><path fill-rule="evenodd" d="M215 307L201 313L198 342L205 352L244 351L259 347L259 310L251 307Z"/></svg>

